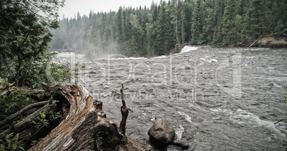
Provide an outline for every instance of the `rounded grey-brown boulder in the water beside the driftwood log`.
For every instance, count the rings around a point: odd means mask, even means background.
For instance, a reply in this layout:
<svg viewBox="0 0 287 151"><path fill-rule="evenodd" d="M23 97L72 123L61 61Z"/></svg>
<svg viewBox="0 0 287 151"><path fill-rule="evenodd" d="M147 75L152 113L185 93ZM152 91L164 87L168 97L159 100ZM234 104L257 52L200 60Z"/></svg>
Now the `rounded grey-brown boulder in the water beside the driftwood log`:
<svg viewBox="0 0 287 151"><path fill-rule="evenodd" d="M154 140L168 144L173 141L175 132L166 120L158 119L148 130L148 135Z"/></svg>

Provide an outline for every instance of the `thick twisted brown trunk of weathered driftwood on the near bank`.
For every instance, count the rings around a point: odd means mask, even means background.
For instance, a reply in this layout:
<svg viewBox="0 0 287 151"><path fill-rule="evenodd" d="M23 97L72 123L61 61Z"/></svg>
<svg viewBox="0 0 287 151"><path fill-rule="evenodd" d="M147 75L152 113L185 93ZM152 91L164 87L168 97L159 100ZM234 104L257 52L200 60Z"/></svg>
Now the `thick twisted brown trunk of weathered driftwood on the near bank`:
<svg viewBox="0 0 287 151"><path fill-rule="evenodd" d="M66 83L46 87L46 97L59 101L57 108L63 109L66 118L31 150L149 150L128 140L116 123L107 120L101 100L92 98L85 88Z"/></svg>

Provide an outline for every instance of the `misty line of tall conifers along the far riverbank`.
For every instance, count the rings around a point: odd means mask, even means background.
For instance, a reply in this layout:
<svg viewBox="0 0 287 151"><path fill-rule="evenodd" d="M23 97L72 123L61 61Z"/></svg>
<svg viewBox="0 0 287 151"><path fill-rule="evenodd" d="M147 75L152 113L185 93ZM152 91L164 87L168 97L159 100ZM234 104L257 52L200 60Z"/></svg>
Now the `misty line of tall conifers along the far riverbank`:
<svg viewBox="0 0 287 151"><path fill-rule="evenodd" d="M170 0L149 8L119 7L59 20L52 49L82 51L91 57L161 56L176 44L241 46L258 36L287 33L286 0Z"/></svg>

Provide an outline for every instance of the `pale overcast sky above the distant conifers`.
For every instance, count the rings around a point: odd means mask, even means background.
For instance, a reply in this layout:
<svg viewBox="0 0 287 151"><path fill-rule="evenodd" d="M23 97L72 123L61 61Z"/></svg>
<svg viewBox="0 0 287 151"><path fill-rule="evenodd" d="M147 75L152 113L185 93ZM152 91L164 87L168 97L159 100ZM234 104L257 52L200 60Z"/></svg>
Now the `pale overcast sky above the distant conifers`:
<svg viewBox="0 0 287 151"><path fill-rule="evenodd" d="M106 11L118 11L119 6L132 6L133 8L139 6L150 7L151 2L159 4L161 0L66 0L66 3L63 8L59 10L60 19L63 17L63 14L66 17L74 17L75 14L79 11L81 16L86 14L89 16L90 10L96 12Z"/></svg>

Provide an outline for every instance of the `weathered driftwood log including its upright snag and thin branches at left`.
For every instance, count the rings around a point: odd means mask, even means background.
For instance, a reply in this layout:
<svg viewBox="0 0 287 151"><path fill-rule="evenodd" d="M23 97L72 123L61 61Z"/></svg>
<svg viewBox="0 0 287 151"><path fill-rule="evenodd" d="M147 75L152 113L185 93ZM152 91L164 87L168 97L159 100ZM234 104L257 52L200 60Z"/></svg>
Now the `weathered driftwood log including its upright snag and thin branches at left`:
<svg viewBox="0 0 287 151"><path fill-rule="evenodd" d="M51 104L50 106L53 106L55 111L61 111L61 123L54 127L43 140L31 147L31 150L149 150L148 146L141 142L129 140L125 135L126 120L131 109L126 106L123 98L124 90L126 90L124 85L121 88L123 105L119 127L116 123L106 119L106 113L102 110L102 101L92 98L81 85L66 83L44 85L47 90L38 96L44 102L27 106L1 121L0 124L11 122L18 114L31 108L39 107L39 109L21 122L6 128L6 130L1 130L1 135L12 131L29 133L24 127L29 127L31 125L29 121L35 119L41 111L47 108L45 104ZM30 134L29 139L31 140L32 136L38 135L37 132Z"/></svg>

